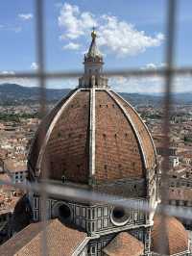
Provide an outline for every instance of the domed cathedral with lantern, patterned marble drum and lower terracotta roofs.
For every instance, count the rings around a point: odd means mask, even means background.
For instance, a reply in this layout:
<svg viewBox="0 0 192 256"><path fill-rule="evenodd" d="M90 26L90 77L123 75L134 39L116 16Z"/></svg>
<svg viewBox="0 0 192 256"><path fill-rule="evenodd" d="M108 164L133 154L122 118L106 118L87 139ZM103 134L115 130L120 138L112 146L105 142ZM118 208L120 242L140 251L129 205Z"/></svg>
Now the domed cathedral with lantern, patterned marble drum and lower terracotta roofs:
<svg viewBox="0 0 192 256"><path fill-rule="evenodd" d="M109 194L113 204L50 195L47 246L50 255L60 256L156 255L162 231L154 213L143 211L144 205L157 206L155 144L132 106L108 87L95 31L91 37L79 87L60 100L36 132L28 182ZM131 201L134 207L124 206ZM36 192L19 200L12 218L16 234L0 247L0 255L40 255L41 205ZM166 224L166 255L188 255L180 221L167 218Z"/></svg>

